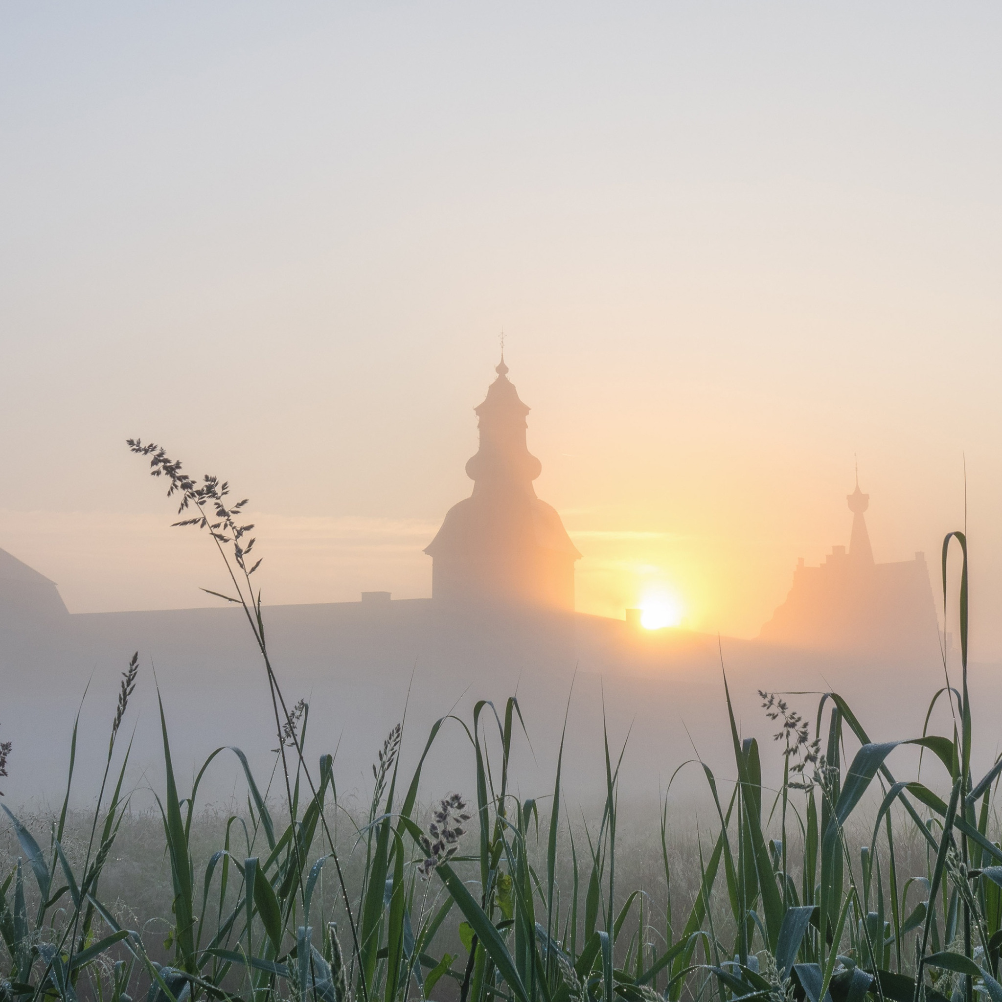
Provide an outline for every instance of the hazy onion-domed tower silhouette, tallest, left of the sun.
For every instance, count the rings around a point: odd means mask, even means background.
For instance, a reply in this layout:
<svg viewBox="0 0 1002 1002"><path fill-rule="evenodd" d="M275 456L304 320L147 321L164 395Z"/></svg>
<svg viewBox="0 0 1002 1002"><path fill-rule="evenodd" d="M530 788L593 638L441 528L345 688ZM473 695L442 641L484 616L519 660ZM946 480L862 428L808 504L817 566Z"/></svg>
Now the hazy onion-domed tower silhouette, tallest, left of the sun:
<svg viewBox="0 0 1002 1002"><path fill-rule="evenodd" d="M542 471L526 445L529 408L504 363L475 413L480 448L466 464L470 497L449 509L425 549L432 598L482 607L574 609L574 562L581 556L556 510L536 497Z"/></svg>

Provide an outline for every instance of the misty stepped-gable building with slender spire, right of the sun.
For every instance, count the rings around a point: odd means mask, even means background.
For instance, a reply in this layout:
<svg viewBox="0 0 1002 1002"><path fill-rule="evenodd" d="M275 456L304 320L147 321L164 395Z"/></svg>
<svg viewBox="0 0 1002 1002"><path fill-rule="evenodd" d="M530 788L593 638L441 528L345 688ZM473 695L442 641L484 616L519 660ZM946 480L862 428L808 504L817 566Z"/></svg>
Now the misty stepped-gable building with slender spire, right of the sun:
<svg viewBox="0 0 1002 1002"><path fill-rule="evenodd" d="M833 546L820 567L800 559L787 600L763 626L771 643L890 659L940 656L939 622L925 554L876 563L865 512L870 495L847 495L853 513L849 550Z"/></svg>

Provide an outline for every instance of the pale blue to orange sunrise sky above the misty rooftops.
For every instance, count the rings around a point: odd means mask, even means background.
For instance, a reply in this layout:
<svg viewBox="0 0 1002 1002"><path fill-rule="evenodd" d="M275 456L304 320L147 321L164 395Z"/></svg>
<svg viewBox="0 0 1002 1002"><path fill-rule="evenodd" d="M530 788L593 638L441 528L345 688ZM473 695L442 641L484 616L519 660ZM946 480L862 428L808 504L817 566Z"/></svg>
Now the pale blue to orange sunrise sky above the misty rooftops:
<svg viewBox="0 0 1002 1002"><path fill-rule="evenodd" d="M266 602L427 596L503 331L578 609L754 636L848 543L858 461L878 561L935 578L967 525L1002 659L1000 31L4 4L0 547L74 612L212 604L138 436L250 499Z"/></svg>

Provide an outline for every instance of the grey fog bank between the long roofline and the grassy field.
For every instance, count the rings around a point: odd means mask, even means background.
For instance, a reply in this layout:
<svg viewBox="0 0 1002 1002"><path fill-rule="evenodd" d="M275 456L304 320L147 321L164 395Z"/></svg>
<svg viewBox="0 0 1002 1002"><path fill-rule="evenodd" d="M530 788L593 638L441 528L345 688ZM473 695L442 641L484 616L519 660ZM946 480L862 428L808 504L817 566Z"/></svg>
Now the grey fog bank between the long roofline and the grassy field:
<svg viewBox="0 0 1002 1002"><path fill-rule="evenodd" d="M761 709L759 689L804 693L788 698L812 726L821 693L837 691L872 739L890 740L922 733L929 702L943 684L943 667L932 659L924 666L868 662L726 638L718 646L716 637L676 630L659 631L670 636L629 636L624 623L603 638L604 650L595 637L590 643L580 638L575 662L560 649L563 638L554 639L538 623L513 640L510 621L503 627L479 623L457 629L439 620L431 628L434 620L425 612L414 607L373 612L359 606L265 610L287 703L292 707L305 698L310 705L308 759L315 767L321 754L335 754L335 776L346 796L365 800L372 763L395 723L405 721L401 768L410 782L436 719L451 712L472 730L476 701L492 700L503 717L510 695L517 696L525 724L524 734L516 726L513 741L513 775L523 797L552 794L565 711L562 780L573 805L590 807L604 799L603 729L613 766L625 744L619 787L630 803L656 804L675 770L697 757L728 788L735 773L721 650L739 733L759 739L766 781L774 787L782 775L782 746L772 739L777 728ZM136 809L151 804L144 790L163 786L156 685L182 787L190 785L214 748L227 744L240 747L258 782L267 782L277 762L277 727L265 668L241 613L80 619L55 643L51 637L33 638L12 650L12 636L5 635L4 667L11 679L5 705L16 707L3 721L4 736L15 750L2 788L8 804L40 810L61 803L72 724L87 685L72 803L83 807L96 798L120 670L136 643L139 682L126 721L135 726L128 776L129 788L137 791ZM15 663L20 670L11 670ZM1000 709L997 671L988 665L971 670L977 692L975 754L985 768L998 752L992 723ZM498 723L490 709L484 710L481 726L482 738L496 755ZM951 730L943 701L930 731ZM847 740L850 752L859 743ZM914 769L914 756L903 750L896 759L892 768ZM928 782L937 782L935 769ZM227 754L202 781L199 797L203 806L233 797L240 804L244 789L240 767ZM451 790L467 795L474 790L472 747L458 721L447 723L436 738L422 795L433 799ZM275 796L279 791L277 786ZM683 770L671 794L674 804L703 803L702 772Z"/></svg>

